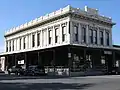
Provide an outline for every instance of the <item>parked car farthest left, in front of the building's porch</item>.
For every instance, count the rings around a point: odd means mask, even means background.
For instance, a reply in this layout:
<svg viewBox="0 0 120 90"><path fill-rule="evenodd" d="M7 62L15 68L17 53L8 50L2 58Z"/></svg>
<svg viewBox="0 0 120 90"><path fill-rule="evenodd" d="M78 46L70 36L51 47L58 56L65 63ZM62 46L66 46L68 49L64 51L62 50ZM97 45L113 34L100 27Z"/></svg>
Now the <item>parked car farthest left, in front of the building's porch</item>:
<svg viewBox="0 0 120 90"><path fill-rule="evenodd" d="M8 69L8 74L10 75L11 73L14 73L15 75L20 75L23 74L23 69L21 66L12 66L11 68Z"/></svg>

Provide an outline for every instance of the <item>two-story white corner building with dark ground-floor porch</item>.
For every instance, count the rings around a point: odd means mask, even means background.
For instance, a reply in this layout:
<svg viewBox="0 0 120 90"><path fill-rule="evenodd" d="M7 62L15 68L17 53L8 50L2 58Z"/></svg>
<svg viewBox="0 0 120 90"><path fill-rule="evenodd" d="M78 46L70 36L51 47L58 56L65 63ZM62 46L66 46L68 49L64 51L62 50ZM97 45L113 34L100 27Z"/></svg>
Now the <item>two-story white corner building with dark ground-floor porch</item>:
<svg viewBox="0 0 120 90"><path fill-rule="evenodd" d="M103 66L109 70L114 65L113 25L97 9L60 8L5 33L2 70L15 65L43 65L56 74Z"/></svg>

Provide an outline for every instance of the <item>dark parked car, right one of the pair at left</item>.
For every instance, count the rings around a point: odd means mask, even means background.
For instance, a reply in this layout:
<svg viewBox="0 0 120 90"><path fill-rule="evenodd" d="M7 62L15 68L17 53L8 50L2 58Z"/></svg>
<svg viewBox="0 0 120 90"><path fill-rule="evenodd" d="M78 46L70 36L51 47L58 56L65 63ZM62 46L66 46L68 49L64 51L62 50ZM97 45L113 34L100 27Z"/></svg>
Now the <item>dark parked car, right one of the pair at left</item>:
<svg viewBox="0 0 120 90"><path fill-rule="evenodd" d="M28 68L24 71L24 75L46 75L45 68L38 65L28 66Z"/></svg>

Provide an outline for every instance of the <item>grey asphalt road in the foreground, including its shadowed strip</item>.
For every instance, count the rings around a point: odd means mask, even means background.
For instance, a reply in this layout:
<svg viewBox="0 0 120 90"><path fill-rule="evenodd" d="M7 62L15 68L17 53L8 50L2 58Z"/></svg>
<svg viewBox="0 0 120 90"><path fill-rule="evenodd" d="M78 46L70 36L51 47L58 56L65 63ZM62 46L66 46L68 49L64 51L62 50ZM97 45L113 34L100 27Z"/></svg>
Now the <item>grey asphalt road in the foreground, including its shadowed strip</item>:
<svg viewBox="0 0 120 90"><path fill-rule="evenodd" d="M120 76L0 76L0 90L120 90Z"/></svg>

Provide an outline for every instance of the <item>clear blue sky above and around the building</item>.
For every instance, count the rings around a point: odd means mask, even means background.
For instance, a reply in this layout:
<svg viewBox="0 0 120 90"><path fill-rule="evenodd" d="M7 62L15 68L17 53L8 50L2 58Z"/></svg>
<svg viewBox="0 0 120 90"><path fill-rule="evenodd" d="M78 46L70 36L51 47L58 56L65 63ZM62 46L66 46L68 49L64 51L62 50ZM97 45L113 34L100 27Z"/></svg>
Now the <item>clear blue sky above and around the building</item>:
<svg viewBox="0 0 120 90"><path fill-rule="evenodd" d="M116 23L112 29L113 44L120 45L119 2L119 0L1 0L0 52L4 51L4 34L6 30L67 5L81 9L84 9L84 6L97 8L101 15L112 17L113 22Z"/></svg>

